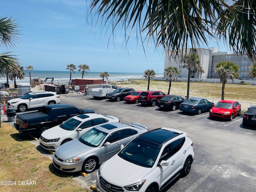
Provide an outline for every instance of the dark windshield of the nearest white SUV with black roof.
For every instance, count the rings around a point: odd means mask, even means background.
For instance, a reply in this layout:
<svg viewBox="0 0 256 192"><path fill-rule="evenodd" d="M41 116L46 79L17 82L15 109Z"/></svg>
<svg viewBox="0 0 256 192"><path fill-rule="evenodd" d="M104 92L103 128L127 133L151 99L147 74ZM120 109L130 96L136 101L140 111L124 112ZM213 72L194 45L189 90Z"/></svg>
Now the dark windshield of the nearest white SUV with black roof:
<svg viewBox="0 0 256 192"><path fill-rule="evenodd" d="M120 158L136 165L151 168L160 149L140 140L130 142L119 154Z"/></svg>

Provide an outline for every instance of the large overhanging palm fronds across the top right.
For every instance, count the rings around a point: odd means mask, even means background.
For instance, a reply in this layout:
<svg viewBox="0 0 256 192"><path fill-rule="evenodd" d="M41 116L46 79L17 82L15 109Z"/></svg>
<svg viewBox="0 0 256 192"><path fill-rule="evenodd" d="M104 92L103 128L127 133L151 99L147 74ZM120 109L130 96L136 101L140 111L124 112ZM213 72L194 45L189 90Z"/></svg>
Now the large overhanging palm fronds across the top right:
<svg viewBox="0 0 256 192"><path fill-rule="evenodd" d="M102 25L111 23L113 36L123 26L126 43L135 31L143 47L152 39L156 48L172 50L172 56L208 46L219 34L234 52L251 57L256 52L255 7L254 0L91 0L88 16Z"/></svg>

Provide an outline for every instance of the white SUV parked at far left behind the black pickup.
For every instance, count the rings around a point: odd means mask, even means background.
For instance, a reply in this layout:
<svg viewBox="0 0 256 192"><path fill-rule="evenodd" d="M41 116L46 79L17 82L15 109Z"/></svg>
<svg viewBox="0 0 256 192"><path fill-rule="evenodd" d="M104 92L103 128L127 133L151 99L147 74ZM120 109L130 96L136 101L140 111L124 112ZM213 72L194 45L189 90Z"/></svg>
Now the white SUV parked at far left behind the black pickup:
<svg viewBox="0 0 256 192"><path fill-rule="evenodd" d="M43 105L59 104L60 96L56 92L30 92L22 98L11 99L7 102L8 108L14 107L19 112Z"/></svg>

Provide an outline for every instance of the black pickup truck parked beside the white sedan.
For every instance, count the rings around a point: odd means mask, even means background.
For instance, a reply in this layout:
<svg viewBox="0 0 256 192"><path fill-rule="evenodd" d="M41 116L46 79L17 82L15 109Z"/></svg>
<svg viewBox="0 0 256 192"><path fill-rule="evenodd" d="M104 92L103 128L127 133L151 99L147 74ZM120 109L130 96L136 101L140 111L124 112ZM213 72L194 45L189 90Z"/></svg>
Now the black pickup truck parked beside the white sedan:
<svg viewBox="0 0 256 192"><path fill-rule="evenodd" d="M94 113L94 111L78 109L66 104L44 105L36 112L17 115L14 125L22 134L40 136L45 130L62 124L70 117L85 113Z"/></svg>

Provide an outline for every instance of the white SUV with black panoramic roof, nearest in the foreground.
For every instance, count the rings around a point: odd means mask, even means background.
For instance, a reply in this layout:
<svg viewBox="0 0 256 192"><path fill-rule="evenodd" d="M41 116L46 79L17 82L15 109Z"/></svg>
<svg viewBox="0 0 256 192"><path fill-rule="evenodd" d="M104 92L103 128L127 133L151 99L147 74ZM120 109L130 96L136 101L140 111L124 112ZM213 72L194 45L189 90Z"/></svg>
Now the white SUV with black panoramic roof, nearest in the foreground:
<svg viewBox="0 0 256 192"><path fill-rule="evenodd" d="M190 172L193 142L186 132L159 128L127 144L97 172L98 192L158 192Z"/></svg>

